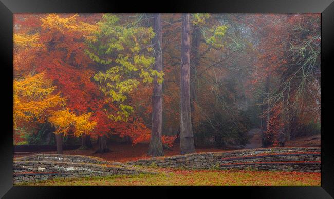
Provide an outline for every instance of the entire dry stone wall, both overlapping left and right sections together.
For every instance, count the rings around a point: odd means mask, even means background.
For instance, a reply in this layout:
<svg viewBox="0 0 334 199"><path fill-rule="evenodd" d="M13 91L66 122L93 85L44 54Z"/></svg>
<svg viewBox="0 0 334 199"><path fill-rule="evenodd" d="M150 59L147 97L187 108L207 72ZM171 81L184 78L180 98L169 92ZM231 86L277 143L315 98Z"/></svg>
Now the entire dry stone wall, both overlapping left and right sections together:
<svg viewBox="0 0 334 199"><path fill-rule="evenodd" d="M136 165L147 168L138 168ZM269 171L321 172L321 149L285 147L244 149L226 152L192 153L157 157L126 163L81 155L37 154L16 158L13 182L35 182L50 178L73 178L156 174L150 166L185 169L255 169Z"/></svg>

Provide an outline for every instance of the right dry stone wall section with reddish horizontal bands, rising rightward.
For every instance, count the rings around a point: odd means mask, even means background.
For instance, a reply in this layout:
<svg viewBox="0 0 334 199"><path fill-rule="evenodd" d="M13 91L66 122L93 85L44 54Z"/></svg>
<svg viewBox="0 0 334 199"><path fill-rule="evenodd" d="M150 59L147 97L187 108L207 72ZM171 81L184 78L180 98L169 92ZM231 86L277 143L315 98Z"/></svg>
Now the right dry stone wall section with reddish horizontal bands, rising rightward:
<svg viewBox="0 0 334 199"><path fill-rule="evenodd" d="M255 169L320 172L321 148L284 147L193 153L129 161L127 164L189 169Z"/></svg>

